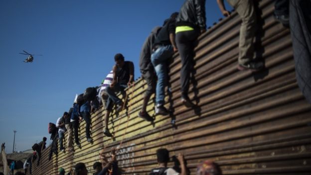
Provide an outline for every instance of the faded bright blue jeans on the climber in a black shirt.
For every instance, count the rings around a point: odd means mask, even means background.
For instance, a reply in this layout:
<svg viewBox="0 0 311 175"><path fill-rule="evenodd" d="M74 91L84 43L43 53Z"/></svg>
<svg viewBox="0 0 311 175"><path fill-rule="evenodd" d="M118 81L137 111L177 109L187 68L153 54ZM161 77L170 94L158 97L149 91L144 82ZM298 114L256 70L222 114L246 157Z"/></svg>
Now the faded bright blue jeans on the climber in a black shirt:
<svg viewBox="0 0 311 175"><path fill-rule="evenodd" d="M151 55L151 62L157 76L155 103L164 105L165 86L167 83L167 60L174 54L171 45L158 47Z"/></svg>

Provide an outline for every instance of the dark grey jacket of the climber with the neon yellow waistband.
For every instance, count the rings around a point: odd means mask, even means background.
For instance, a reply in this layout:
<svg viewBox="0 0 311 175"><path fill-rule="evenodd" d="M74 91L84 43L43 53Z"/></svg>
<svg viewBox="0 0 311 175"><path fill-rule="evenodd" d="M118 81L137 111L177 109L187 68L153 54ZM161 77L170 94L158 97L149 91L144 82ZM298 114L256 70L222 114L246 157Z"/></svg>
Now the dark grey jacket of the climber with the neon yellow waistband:
<svg viewBox="0 0 311 175"><path fill-rule="evenodd" d="M205 0L185 0L176 18L176 26L205 29Z"/></svg>

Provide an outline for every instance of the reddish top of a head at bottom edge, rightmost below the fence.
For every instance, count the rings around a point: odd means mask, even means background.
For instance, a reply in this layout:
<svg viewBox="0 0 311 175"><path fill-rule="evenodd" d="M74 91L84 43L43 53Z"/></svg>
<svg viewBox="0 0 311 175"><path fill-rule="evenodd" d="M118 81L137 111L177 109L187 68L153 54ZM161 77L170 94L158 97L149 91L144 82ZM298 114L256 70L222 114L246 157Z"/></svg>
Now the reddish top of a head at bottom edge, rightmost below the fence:
<svg viewBox="0 0 311 175"><path fill-rule="evenodd" d="M222 175L222 173L217 164L207 160L197 166L196 175Z"/></svg>

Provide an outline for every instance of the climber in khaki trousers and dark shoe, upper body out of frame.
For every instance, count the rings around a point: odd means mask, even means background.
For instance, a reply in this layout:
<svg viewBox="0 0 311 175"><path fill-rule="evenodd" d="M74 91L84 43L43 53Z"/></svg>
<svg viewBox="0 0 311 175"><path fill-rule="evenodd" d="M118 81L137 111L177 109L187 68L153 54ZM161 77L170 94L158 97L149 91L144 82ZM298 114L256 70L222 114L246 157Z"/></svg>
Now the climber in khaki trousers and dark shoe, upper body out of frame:
<svg viewBox="0 0 311 175"><path fill-rule="evenodd" d="M239 42L239 70L259 71L264 67L262 61L255 60L254 37L256 32L257 17L253 0L227 0L235 8L242 24L240 28ZM217 0L218 6L224 16L230 16L230 12L224 6L224 0Z"/></svg>

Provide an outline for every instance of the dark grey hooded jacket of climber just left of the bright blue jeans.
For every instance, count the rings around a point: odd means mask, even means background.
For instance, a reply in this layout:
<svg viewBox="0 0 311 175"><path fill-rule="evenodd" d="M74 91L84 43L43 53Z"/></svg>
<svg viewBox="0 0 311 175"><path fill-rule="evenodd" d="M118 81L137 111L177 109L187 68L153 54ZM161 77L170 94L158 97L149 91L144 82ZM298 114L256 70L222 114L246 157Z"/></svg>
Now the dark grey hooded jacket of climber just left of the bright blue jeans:
<svg viewBox="0 0 311 175"><path fill-rule="evenodd" d="M151 31L151 34L147 37L147 39L144 42L141 55L140 55L140 70L141 73L144 73L148 70L154 70L154 66L151 63L151 53L153 44L155 42L155 37L158 33L158 31L161 29L161 27L156 26Z"/></svg>

